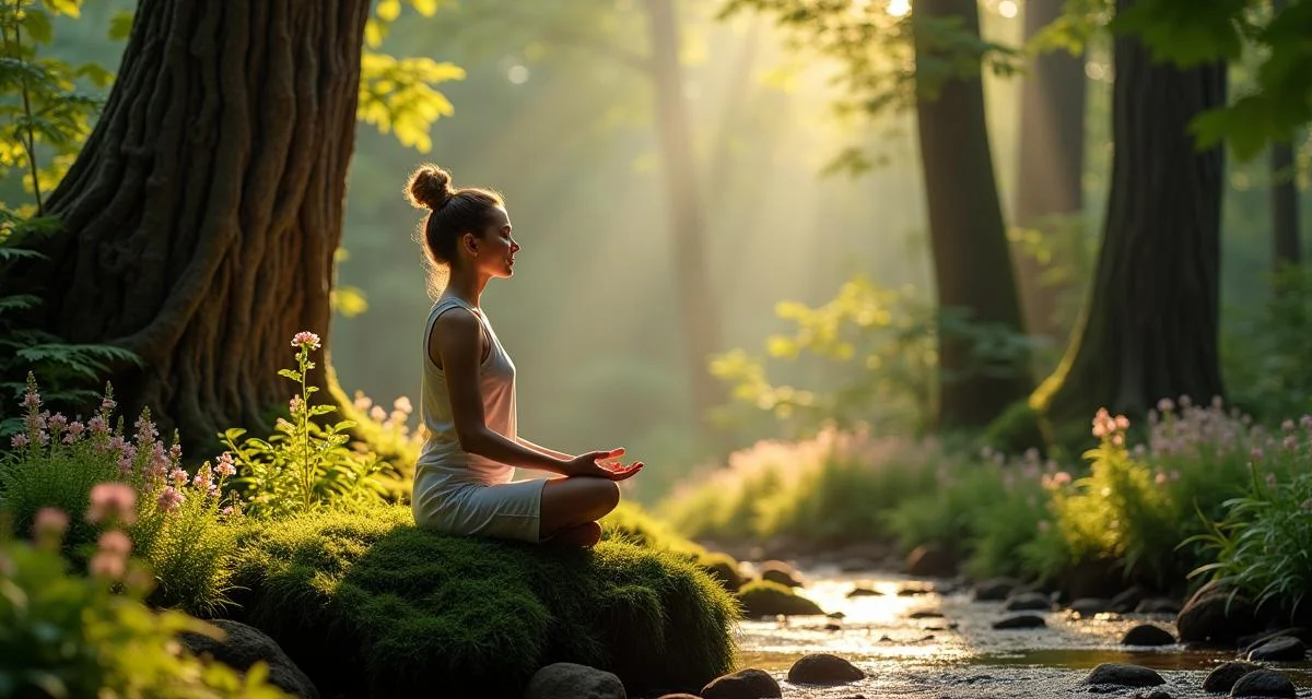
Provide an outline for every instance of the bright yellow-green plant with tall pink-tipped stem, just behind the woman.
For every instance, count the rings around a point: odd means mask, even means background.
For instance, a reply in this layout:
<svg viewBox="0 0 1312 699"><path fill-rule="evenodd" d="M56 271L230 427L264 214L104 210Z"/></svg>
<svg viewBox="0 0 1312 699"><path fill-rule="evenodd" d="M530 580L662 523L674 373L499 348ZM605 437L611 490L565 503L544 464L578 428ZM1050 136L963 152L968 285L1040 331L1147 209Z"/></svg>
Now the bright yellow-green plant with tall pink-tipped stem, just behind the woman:
<svg viewBox="0 0 1312 699"><path fill-rule="evenodd" d="M342 420L323 426L315 418L337 410L336 405L314 405L311 396L319 391L307 380L315 363L310 353L319 349L319 336L299 332L291 340L297 349L297 369L282 369L278 375L299 384L300 391L287 404L287 417L278 418L277 433L268 439L247 438L234 428L219 437L231 450L240 476L236 488L244 494L247 513L260 518L279 518L310 510L362 505L382 498L384 488L378 479L378 456L353 451L345 430L356 425Z"/></svg>

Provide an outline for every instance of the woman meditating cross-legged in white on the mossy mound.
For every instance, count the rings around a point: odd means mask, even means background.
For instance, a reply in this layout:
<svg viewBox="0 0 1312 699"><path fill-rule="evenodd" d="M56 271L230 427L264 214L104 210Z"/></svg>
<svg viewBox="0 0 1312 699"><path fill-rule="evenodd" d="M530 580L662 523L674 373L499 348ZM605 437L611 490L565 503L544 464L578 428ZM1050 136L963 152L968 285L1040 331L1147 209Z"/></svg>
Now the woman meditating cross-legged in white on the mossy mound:
<svg viewBox="0 0 1312 699"><path fill-rule="evenodd" d="M451 534L596 544L597 519L619 504L615 483L643 464L615 463L623 449L572 456L517 434L514 363L479 307L489 279L514 274L520 252L501 197L453 189L451 176L436 165L411 174L407 194L429 210L419 236L429 290L437 292L424 328L420 414L428 438L415 469L416 523ZM512 481L516 467L564 477Z"/></svg>

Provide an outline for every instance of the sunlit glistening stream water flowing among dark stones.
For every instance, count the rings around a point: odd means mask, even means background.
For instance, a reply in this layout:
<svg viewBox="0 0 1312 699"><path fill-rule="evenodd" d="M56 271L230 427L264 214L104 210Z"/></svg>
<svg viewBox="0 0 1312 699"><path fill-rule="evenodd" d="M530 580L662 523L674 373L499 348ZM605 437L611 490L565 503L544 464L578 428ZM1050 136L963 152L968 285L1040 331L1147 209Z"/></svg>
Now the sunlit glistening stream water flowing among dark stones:
<svg viewBox="0 0 1312 699"><path fill-rule="evenodd" d="M1069 611L1025 612L1043 616L1044 628L993 629L1006 616L1001 602L975 602L968 589L934 588L929 581L892 574L804 572L800 594L841 619L794 616L749 620L739 628L739 668L760 668L779 679L785 698L1022 699L1089 695L1081 685L1102 662L1143 665L1157 670L1174 699L1218 696L1202 690L1216 665L1235 652L1190 650L1182 645L1130 648L1126 631L1152 623L1176 632L1174 616L1099 614L1078 618ZM880 595L848 597L855 586ZM899 594L904 590L929 590ZM941 615L941 616L937 616ZM866 679L837 687L794 686L789 668L807 653L833 653L866 671ZM1312 696L1312 662L1270 664ZM1134 696L1118 689L1107 696ZM1102 692L1099 692L1102 694Z"/></svg>

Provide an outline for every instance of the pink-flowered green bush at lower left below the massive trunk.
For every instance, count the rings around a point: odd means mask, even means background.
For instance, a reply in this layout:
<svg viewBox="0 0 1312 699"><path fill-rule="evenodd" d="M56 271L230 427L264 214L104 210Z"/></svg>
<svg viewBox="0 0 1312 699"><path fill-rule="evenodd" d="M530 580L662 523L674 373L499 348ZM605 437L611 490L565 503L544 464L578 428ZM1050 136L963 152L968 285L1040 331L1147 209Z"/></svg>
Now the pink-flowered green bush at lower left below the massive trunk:
<svg viewBox="0 0 1312 699"><path fill-rule="evenodd" d="M231 463L205 463L193 476L181 466L177 441L165 449L156 439L148 410L134 435L125 437L121 421L110 430L114 401L108 392L87 424L42 410L34 378L24 404L24 431L0 458L0 508L17 526L29 526L42 509L70 513L64 540L77 559L80 547L102 529L96 493L108 484L130 489L127 532L156 576L150 602L198 614L222 607L236 547L232 527L220 517L232 513L223 494Z"/></svg>

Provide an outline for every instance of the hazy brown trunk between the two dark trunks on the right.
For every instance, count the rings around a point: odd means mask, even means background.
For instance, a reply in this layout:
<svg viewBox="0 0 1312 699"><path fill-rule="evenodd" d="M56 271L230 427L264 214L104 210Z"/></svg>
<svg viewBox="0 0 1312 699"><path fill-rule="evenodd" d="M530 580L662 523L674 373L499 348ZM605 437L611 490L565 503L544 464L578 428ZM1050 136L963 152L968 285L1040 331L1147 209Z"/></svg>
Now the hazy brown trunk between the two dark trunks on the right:
<svg viewBox="0 0 1312 699"><path fill-rule="evenodd" d="M1026 38L1059 18L1061 5L1061 0L1029 0L1025 4ZM1021 92L1014 226L1051 235L1054 216L1082 211L1085 88L1084 54L1048 51L1030 63ZM1025 327L1031 334L1065 341L1057 300L1069 285L1044 282L1042 275L1047 265L1019 249L1013 249L1013 257Z"/></svg>

